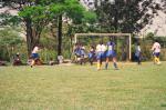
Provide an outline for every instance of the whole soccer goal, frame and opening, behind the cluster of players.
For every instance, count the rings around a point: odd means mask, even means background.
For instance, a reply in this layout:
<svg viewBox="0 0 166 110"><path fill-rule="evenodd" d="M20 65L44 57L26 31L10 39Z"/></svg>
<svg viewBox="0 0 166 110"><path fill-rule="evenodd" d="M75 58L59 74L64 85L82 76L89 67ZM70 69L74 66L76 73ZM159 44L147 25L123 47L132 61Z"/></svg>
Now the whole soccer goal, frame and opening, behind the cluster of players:
<svg viewBox="0 0 166 110"><path fill-rule="evenodd" d="M74 43L82 43L86 50L93 44L103 41L105 44L112 39L116 43L117 59L129 61L132 59L132 36L131 33L75 33Z"/></svg>

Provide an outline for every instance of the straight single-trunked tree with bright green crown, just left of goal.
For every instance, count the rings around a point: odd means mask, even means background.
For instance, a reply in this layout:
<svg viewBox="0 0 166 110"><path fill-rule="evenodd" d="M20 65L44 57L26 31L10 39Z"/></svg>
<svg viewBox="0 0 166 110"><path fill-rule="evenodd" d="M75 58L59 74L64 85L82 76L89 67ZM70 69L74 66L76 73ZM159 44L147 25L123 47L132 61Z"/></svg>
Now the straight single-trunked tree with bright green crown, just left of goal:
<svg viewBox="0 0 166 110"><path fill-rule="evenodd" d="M49 4L50 14L53 19L58 19L58 56L62 54L62 18L72 20L74 24L79 24L83 21L91 21L95 19L94 13L87 12L85 8L77 0L61 0L51 1ZM87 17L89 14L90 17Z"/></svg>

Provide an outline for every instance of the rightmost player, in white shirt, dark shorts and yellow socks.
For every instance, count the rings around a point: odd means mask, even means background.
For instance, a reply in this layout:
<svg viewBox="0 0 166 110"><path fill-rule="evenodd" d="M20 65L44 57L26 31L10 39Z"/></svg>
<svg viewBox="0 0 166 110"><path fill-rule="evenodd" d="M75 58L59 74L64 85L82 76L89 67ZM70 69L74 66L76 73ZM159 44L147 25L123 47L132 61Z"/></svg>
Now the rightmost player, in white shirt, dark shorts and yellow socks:
<svg viewBox="0 0 166 110"><path fill-rule="evenodd" d="M154 63L155 64L160 64L160 61L159 61L160 44L157 40L155 40L155 42L152 47L152 51L153 51L153 54L154 54Z"/></svg>

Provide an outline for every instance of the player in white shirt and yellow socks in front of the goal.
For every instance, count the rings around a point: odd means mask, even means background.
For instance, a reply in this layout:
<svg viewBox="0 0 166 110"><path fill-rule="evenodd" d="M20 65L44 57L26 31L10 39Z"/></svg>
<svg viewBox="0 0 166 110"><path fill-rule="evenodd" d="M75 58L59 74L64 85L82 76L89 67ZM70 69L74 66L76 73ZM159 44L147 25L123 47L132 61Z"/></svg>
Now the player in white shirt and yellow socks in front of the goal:
<svg viewBox="0 0 166 110"><path fill-rule="evenodd" d="M97 70L101 70L105 51L106 51L106 47L101 41L100 44L96 46Z"/></svg>

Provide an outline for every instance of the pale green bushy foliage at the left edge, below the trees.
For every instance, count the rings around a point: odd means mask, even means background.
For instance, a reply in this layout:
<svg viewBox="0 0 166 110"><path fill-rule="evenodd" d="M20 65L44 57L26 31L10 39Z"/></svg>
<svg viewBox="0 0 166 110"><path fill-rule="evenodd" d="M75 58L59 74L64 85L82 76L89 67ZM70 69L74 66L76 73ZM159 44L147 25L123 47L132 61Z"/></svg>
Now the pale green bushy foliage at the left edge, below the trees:
<svg viewBox="0 0 166 110"><path fill-rule="evenodd" d="M23 49L24 41L14 28L9 27L0 30L0 59L2 60L10 61L14 53Z"/></svg>

